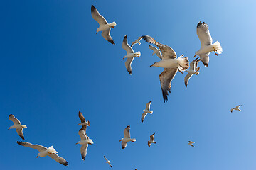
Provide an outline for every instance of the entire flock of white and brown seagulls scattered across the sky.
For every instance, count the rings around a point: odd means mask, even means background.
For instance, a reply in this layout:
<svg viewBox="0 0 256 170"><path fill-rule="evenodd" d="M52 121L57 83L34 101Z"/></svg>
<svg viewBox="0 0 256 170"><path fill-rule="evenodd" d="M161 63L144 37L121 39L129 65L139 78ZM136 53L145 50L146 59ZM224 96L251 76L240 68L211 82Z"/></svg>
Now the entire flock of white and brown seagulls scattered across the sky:
<svg viewBox="0 0 256 170"><path fill-rule="evenodd" d="M110 36L110 30L111 28L114 28L117 24L115 22L108 23L107 20L100 15L99 11L95 8L95 6L91 6L91 14L92 18L99 23L99 28L97 28L96 34L100 31L102 31L102 37L105 38L108 42L115 44L114 40ZM171 93L171 81L174 79L177 72L187 72L186 77L184 78L185 86L188 86L188 81L191 79L193 74L198 75L199 69L198 62L202 62L205 67L208 67L209 63L209 55L210 52L215 52L215 55L221 54L222 47L220 46L220 42L216 41L213 43L213 39L211 38L209 27L205 22L198 22L196 33L198 35L199 40L201 41L201 48L200 50L196 51L195 56L198 55L195 60L192 62L189 62L188 57L184 57L184 55L180 55L177 57L176 52L168 45L161 44L160 42L157 42L154 38L152 38L149 35L142 35L137 38L137 40L134 40L131 45L128 43L127 35L124 36L123 42L122 42L122 48L126 50L127 55L124 56L124 58L127 58L125 62L125 67L127 69L127 72L129 74L132 74L132 61L134 60L134 57L140 57L141 52L134 52L132 47L136 44L140 45L141 40L145 40L146 42L156 45L156 47L149 45L149 49L153 50L153 54L156 54L157 57L159 57L159 62L154 62L154 64L151 64L150 67L162 67L164 68L164 71L159 74L160 84L161 84L161 90L164 98L164 102L168 101L167 96L169 93ZM123 59L124 59L123 58ZM189 67L189 69L188 69ZM152 101L149 101L146 103L146 108L143 110L144 113L142 113L141 121L144 122L146 115L152 114L153 111L150 111ZM235 108L232 108L230 111L231 113L235 111L241 111L240 106L238 105ZM81 125L82 128L78 131L78 135L80 136L80 141L78 141L76 144L80 144L80 154L82 156L82 160L85 160L85 157L87 155L87 149L89 145L93 144L92 139L88 137L87 135L87 126L90 126L90 121L86 121L85 117L82 115L82 113L78 112L78 117L80 118L80 123L78 125ZM9 115L9 120L14 122L14 125L12 125L9 129L16 129L16 132L21 137L21 139L25 140L25 137L23 135L23 128L27 128L26 125L21 125L21 122L15 118L14 115ZM8 129L8 130L9 130ZM154 135L153 133L150 136L150 140L147 142L148 146L151 147L151 144L156 144L156 141L154 141ZM130 125L127 125L127 127L124 129L124 138L119 140L121 142L122 149L127 147L127 142L135 142L135 138L131 138L130 134ZM29 142L19 142L17 141L18 145L21 145L23 147L30 147L33 149L38 150L37 157L46 157L49 156L52 159L54 159L56 162L59 162L60 164L63 164L65 166L68 166L68 162L63 158L58 156L58 152L51 147L43 147L42 145L33 145ZM188 145L191 147L194 147L195 142L188 141ZM110 164L110 161L104 156L106 163L109 164L110 167L112 165Z"/></svg>

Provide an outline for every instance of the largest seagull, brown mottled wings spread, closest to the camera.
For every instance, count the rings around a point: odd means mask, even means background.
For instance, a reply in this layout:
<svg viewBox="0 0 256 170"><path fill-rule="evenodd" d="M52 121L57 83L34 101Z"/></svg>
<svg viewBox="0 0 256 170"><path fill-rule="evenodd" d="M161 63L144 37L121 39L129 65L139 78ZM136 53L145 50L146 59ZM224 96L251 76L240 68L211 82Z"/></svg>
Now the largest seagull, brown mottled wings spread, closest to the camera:
<svg viewBox="0 0 256 170"><path fill-rule="evenodd" d="M171 47L156 42L156 40L154 40L154 38L151 38L149 35L143 35L142 38L146 42L149 42L159 47L162 52L162 60L160 62L155 62L151 66L164 68L164 71L161 72L159 78L164 102L166 102L168 101L168 91L169 93L171 93L171 81L172 79L174 79L178 71L182 73L183 71L186 71L188 69L188 58L183 58L184 55L181 55L177 58L176 52Z"/></svg>

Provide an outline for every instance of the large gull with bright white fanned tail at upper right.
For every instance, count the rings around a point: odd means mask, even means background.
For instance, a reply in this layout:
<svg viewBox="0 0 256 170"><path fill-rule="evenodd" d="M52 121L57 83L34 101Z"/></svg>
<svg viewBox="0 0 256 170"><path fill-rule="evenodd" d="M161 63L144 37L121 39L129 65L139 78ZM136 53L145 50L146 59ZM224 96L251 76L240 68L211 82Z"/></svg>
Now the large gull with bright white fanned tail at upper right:
<svg viewBox="0 0 256 170"><path fill-rule="evenodd" d="M213 44L213 38L210 36L209 26L205 22L199 22L196 27L196 33L201 42L201 48L195 54L199 55L205 67L208 67L210 52L214 51L215 55L221 54L222 47L220 42L216 41ZM217 54L218 53L218 54Z"/></svg>

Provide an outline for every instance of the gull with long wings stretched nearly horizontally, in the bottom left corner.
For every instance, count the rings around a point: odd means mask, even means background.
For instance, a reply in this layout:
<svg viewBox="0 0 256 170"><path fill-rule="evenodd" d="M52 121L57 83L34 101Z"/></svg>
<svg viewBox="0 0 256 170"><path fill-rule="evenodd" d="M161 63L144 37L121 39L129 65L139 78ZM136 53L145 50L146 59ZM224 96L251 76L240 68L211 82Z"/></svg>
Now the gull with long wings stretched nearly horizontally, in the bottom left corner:
<svg viewBox="0 0 256 170"><path fill-rule="evenodd" d="M33 149L37 149L39 151L39 153L37 154L37 157L46 157L49 156L52 159L54 159L56 162L63 164L65 166L68 166L68 162L62 158L58 156L58 152L53 148L53 146L51 147L43 147L42 145L33 145L31 143L28 142L19 142L17 141L18 145L24 146L24 147L31 147Z"/></svg>

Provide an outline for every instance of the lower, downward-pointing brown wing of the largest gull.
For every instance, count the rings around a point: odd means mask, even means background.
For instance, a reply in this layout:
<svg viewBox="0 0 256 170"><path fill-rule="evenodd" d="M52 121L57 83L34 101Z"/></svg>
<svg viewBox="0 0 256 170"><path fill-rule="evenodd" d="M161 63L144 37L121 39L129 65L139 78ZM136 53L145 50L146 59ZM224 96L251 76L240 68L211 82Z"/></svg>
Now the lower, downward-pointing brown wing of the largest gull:
<svg viewBox="0 0 256 170"><path fill-rule="evenodd" d="M171 93L171 81L174 79L177 72L178 68L168 68L164 69L164 71L159 75L164 102L168 101L167 95L168 91Z"/></svg>

